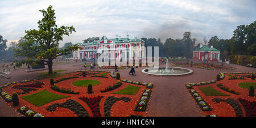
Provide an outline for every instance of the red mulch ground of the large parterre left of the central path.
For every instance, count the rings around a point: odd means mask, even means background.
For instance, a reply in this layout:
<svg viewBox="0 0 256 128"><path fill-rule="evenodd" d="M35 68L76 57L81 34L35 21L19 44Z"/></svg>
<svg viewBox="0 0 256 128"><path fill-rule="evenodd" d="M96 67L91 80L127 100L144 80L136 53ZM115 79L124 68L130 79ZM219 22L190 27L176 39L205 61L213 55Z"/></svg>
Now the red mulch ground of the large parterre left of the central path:
<svg viewBox="0 0 256 128"><path fill-rule="evenodd" d="M78 74L79 72L73 72L71 73L71 75L75 75ZM102 72L104 73L104 72ZM69 77L70 74L66 74L65 76L62 76L60 78L55 78L54 80L57 79L61 79L61 78L66 78ZM78 75L77 75L78 76ZM78 91L79 95L75 95L75 94L68 94L68 93L61 93L61 92L57 92L57 91L53 91L53 89L50 88L50 80L49 79L43 79L43 80L39 80L40 82L44 82L44 86L42 88L36 88L38 89L37 91L31 91L30 93L24 94L24 95L18 95L19 96L19 106L13 106L13 102L10 103L6 103L11 105L14 110L17 110L18 108L20 108L21 106L28 106L30 109L35 110L36 112L42 114L43 116L47 116L47 117L74 117L77 116L76 113L74 113L72 110L69 110L67 108L60 108L57 107L55 111L53 112L48 112L46 110L47 106L55 104L55 103L64 103L66 100L68 99L73 99L75 101L77 101L79 104L81 104L86 111L88 112L89 116L93 116L92 110L89 108L89 106L82 100L79 99L79 97L82 96L87 96L87 97L95 97L95 96L104 96L101 100L100 100L100 113L101 116L104 116L104 102L105 100L109 97L109 96L115 96L115 97L129 97L131 99L131 101L129 102L123 102L122 100L117 101L111 110L111 116L115 116L115 117L126 117L126 116L130 116L130 115L140 115L140 116L145 116L146 112L135 112L134 108L135 105L138 103L139 98L142 95L142 92L144 91L144 89L146 89L146 86L139 86L136 84L130 84L130 83L125 83L125 82L121 82L122 86L114 89L112 91L109 92L104 92L101 93L100 90L101 88L106 88L108 86L113 86L113 84L117 83L117 79L111 78L111 76L109 75L109 73L107 73L108 78L98 78L98 77L90 77L90 75L87 75L86 77L82 77L79 75L79 78L75 78L75 79L68 79L68 80L63 80L59 83L56 83L56 86L58 86L59 88L66 88L69 89L71 88L71 91ZM84 79L93 79L93 80L98 80L101 83L93 86L93 93L92 94L88 94L87 93L87 87L76 87L73 86L72 83L77 81L77 80L84 80ZM32 82L26 82L26 83L16 83L14 85L11 85L9 87L3 88L4 91L6 91L7 93L9 93L9 95L12 95L14 92L22 92L19 89L13 89L11 87L15 86L15 85L24 85L24 84L31 84ZM125 88L128 84L133 85L133 86L138 86L141 87L138 91L138 93L136 95L118 95L118 94L113 94L112 92L116 92L119 91L123 88ZM20 98L20 96L26 96L26 95L31 95L32 93L36 93L36 92L40 92L43 89L46 89L49 92L55 93L57 95L64 95L64 96L70 96L64 99L60 99L60 100L56 100L56 101L52 101L51 103L47 103L44 104L42 106L35 106L31 103L28 103L28 101L23 100L22 98Z"/></svg>

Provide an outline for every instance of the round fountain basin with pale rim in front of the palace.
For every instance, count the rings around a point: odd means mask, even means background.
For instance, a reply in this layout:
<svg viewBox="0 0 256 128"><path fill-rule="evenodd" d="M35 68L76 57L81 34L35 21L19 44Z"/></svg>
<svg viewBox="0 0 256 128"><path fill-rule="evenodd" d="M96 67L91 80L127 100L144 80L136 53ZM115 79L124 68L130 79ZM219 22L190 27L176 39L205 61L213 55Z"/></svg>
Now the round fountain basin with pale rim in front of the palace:
<svg viewBox="0 0 256 128"><path fill-rule="evenodd" d="M174 72L171 72L171 70L174 70ZM152 75L152 76L183 76L183 75L189 75L193 73L193 70L191 69L185 69L183 67L168 67L168 72L166 72L166 67L150 67L147 69L143 69L142 73L146 75Z"/></svg>

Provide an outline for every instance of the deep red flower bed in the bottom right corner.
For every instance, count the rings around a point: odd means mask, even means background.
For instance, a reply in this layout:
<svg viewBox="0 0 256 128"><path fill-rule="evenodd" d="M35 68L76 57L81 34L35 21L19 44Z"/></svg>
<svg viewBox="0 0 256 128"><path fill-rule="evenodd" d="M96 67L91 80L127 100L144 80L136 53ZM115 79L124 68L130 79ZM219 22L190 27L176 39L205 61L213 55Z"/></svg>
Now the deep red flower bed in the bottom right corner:
<svg viewBox="0 0 256 128"><path fill-rule="evenodd" d="M245 99L239 98L238 101L243 105L246 111L246 117L255 117L256 116L256 101L248 101Z"/></svg>

